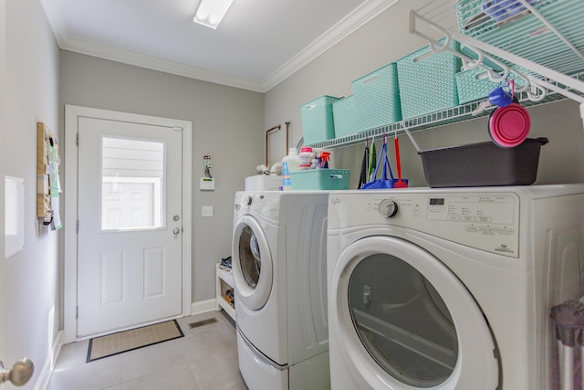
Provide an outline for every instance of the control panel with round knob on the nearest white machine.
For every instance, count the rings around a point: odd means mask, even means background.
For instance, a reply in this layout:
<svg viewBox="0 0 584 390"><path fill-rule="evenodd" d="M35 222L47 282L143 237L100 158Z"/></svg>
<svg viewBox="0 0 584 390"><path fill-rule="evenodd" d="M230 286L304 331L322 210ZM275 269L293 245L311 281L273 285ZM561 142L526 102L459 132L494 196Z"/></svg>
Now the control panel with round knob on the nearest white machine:
<svg viewBox="0 0 584 390"><path fill-rule="evenodd" d="M405 227L468 247L519 256L518 195L451 191L333 193L328 202L328 228Z"/></svg>

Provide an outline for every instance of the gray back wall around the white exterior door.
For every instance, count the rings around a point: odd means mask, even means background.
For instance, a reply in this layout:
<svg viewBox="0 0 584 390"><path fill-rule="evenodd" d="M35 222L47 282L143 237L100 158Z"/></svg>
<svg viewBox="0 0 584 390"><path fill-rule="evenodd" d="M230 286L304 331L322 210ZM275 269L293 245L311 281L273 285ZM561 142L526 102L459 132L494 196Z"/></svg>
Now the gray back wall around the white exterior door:
<svg viewBox="0 0 584 390"><path fill-rule="evenodd" d="M73 104L193 121L192 300L214 298L214 265L231 255L235 192L264 160L264 94L63 50L60 61L61 115ZM205 154L213 192L199 190ZM202 217L201 206L214 216Z"/></svg>

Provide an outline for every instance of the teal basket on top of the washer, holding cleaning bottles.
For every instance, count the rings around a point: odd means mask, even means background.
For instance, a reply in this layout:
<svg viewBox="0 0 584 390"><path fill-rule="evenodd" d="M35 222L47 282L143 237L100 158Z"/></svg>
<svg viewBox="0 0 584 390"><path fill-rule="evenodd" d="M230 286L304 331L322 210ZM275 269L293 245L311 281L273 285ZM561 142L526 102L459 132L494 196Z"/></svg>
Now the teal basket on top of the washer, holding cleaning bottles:
<svg viewBox="0 0 584 390"><path fill-rule="evenodd" d="M349 169L309 169L290 173L293 190L348 190Z"/></svg>

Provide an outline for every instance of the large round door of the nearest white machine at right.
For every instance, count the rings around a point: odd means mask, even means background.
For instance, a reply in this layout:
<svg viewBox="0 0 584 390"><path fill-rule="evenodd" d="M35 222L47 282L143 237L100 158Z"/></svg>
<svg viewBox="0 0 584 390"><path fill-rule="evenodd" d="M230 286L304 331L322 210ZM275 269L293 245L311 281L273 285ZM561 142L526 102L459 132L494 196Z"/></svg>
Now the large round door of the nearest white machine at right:
<svg viewBox="0 0 584 390"><path fill-rule="evenodd" d="M483 312L426 250L394 237L362 238L341 252L329 294L330 326L357 383L441 390L499 385Z"/></svg>

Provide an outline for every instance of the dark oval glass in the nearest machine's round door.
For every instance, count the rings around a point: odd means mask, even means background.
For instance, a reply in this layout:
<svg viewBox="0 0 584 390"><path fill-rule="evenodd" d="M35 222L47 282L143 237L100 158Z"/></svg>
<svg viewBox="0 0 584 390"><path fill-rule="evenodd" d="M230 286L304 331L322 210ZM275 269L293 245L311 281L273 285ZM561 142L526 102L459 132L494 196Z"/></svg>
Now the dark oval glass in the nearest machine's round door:
<svg viewBox="0 0 584 390"><path fill-rule="evenodd" d="M451 313L430 281L400 258L360 261L349 279L349 311L367 352L402 383L433 387L453 373L458 342Z"/></svg>

